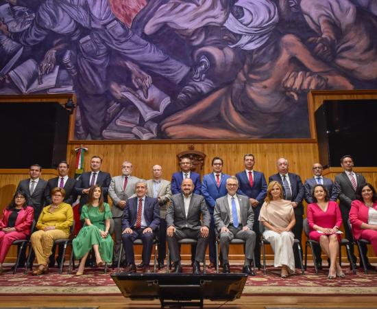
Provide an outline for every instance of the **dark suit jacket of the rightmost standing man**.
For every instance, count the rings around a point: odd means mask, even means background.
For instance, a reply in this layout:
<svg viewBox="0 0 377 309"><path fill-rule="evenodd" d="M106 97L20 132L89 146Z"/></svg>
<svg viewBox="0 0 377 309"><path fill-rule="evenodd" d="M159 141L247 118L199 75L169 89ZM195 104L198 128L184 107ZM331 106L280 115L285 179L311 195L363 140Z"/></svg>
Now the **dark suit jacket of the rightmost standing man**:
<svg viewBox="0 0 377 309"><path fill-rule="evenodd" d="M367 182L365 181L363 175L355 172L354 174L356 176L357 185L361 185L362 183ZM341 174L335 176L335 184L339 188L339 207L341 209L348 209L348 211L350 211L352 201L356 200L356 192L354 190L354 187L352 187L352 183L347 174L345 174L345 172L342 172Z"/></svg>

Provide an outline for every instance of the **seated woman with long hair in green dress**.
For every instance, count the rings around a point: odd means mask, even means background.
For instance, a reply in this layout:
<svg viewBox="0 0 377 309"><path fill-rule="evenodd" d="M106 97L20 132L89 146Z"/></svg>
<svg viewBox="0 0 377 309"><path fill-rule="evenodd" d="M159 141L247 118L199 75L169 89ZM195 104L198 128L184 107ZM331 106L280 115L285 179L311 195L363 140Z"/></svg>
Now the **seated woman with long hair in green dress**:
<svg viewBox="0 0 377 309"><path fill-rule="evenodd" d="M88 192L88 204L82 207L81 220L85 226L73 240L75 258L81 259L76 275L84 273L86 258L89 251L95 251L95 260L98 266L112 261L113 241L109 234L110 206L104 203L104 196L99 185L93 185Z"/></svg>

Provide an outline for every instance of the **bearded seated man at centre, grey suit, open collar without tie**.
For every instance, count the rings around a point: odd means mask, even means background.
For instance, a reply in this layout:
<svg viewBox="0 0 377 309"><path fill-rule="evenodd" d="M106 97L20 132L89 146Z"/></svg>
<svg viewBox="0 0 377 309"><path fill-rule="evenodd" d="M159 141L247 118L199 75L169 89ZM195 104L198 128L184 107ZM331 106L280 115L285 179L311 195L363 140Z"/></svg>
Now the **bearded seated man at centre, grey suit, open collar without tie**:
<svg viewBox="0 0 377 309"><path fill-rule="evenodd" d="M208 243L210 214L204 197L193 193L192 179L184 179L182 193L171 196L171 204L167 209L167 244L174 263L174 273L181 273L180 249L178 240L183 238L197 239L197 250L193 273L200 273L200 262L204 261ZM200 217L202 216L202 222Z"/></svg>

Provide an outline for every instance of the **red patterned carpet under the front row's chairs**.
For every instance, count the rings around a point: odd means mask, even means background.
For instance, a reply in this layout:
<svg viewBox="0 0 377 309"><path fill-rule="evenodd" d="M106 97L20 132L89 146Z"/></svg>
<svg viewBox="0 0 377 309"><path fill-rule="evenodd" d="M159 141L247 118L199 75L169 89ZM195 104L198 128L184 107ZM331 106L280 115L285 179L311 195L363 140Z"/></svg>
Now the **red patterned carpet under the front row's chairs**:
<svg viewBox="0 0 377 309"><path fill-rule="evenodd" d="M241 272L241 266L231 268L232 272ZM297 271L287 279L279 277L276 268L267 268L267 275L257 271L255 277L248 277L243 290L245 295L375 295L377 296L377 272L365 275L362 269L357 275L345 271L345 279L328 279L327 270L315 275L314 268L308 267L305 275ZM184 273L190 273L191 267L184 267ZM212 273L213 271L208 271ZM0 275L0 295L119 295L120 291L112 281L108 271L92 268L80 277L74 273L59 275L57 268L49 273L34 277L22 271L13 275L6 271Z"/></svg>

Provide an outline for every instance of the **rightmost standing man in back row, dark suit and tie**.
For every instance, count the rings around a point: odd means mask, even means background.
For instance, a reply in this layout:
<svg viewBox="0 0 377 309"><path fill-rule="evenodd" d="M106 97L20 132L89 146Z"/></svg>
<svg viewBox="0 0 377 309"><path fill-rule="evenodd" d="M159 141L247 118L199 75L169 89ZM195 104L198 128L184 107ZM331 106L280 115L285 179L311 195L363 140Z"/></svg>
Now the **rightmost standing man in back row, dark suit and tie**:
<svg viewBox="0 0 377 309"><path fill-rule="evenodd" d="M335 183L339 188L339 208L341 209L341 218L343 220L343 227L345 231L345 238L353 243L354 238L352 236L352 231L348 228L348 215L351 209L352 201L356 200L356 188L359 185L367 183L364 176L354 172L354 159L350 155L345 155L341 157L341 167L343 172L335 176ZM363 245L363 252L365 253L365 261L367 262L367 268L374 269L375 266L369 263L367 258L367 246ZM354 255L354 246L350 246L352 260L356 264L356 256ZM362 261L360 259L360 266L363 267Z"/></svg>

